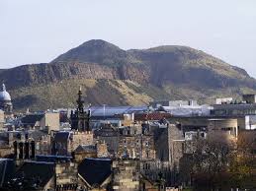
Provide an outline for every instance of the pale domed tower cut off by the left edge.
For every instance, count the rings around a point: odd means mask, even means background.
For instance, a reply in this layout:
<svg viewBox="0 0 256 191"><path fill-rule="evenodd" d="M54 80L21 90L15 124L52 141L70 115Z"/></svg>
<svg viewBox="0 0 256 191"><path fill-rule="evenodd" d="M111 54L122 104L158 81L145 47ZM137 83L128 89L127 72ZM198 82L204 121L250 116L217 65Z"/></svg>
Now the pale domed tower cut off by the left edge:
<svg viewBox="0 0 256 191"><path fill-rule="evenodd" d="M0 92L0 109L2 109L7 116L12 115L13 113L12 99L9 93L6 91L4 84L2 86L2 92Z"/></svg>

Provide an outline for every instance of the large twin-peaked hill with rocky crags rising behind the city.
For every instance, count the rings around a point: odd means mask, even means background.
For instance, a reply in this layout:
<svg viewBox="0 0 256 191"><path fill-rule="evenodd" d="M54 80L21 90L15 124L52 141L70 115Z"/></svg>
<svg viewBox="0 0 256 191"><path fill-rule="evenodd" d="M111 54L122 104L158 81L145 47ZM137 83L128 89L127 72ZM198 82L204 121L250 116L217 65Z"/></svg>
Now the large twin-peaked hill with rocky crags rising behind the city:
<svg viewBox="0 0 256 191"><path fill-rule="evenodd" d="M14 78L15 77L15 78ZM153 99L240 96L256 80L203 51L186 46L123 50L90 40L50 63L0 70L17 109L73 106L79 85L87 103L146 104Z"/></svg>

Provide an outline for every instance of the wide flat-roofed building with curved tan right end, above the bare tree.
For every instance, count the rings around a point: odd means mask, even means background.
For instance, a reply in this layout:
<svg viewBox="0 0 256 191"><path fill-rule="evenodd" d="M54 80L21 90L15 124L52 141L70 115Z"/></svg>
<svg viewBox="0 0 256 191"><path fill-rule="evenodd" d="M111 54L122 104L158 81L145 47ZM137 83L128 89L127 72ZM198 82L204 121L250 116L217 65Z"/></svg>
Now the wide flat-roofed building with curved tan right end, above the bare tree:
<svg viewBox="0 0 256 191"><path fill-rule="evenodd" d="M239 125L244 117L232 116L194 116L194 117L173 117L170 123L178 123L186 142L184 152L190 151L190 143L203 139L221 140L233 145L239 135ZM243 129L243 128L240 128Z"/></svg>

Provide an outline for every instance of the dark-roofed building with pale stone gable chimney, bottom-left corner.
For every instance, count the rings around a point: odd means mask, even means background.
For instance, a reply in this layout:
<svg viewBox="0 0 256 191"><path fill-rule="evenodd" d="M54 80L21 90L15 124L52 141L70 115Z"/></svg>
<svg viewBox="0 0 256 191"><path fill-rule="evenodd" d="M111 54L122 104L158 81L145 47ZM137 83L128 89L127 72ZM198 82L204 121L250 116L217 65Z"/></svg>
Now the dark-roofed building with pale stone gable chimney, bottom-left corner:
<svg viewBox="0 0 256 191"><path fill-rule="evenodd" d="M69 190L78 188L77 164L70 161L52 162L25 160L4 182L7 190Z"/></svg>

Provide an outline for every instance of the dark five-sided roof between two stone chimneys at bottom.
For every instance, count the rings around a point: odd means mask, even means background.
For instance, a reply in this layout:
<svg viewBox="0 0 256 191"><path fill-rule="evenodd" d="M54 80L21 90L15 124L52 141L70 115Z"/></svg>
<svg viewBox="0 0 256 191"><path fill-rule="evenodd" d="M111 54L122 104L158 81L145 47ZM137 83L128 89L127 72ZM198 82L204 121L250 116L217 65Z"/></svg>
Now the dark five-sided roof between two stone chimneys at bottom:
<svg viewBox="0 0 256 191"><path fill-rule="evenodd" d="M84 159L78 173L90 186L101 185L112 174L111 164L111 159Z"/></svg>

